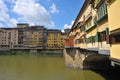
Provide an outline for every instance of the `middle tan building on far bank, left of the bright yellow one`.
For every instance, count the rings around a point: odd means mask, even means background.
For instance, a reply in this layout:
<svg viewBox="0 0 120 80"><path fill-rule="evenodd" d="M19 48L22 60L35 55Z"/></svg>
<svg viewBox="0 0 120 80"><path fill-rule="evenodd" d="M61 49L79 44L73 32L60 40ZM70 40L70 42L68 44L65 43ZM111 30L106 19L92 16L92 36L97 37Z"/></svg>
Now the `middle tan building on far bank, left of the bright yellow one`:
<svg viewBox="0 0 120 80"><path fill-rule="evenodd" d="M44 48L44 32L43 26L31 26L23 31L23 45L29 48Z"/></svg>

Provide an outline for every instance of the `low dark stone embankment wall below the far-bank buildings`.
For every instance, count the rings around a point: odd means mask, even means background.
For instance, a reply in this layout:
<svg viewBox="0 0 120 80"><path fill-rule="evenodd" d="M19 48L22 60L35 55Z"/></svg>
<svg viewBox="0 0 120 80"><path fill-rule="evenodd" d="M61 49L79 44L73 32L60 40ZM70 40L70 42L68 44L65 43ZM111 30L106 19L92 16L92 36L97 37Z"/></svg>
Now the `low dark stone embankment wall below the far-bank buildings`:
<svg viewBox="0 0 120 80"><path fill-rule="evenodd" d="M5 54L35 54L35 55L55 55L63 56L63 49L7 49L0 48L0 53Z"/></svg>

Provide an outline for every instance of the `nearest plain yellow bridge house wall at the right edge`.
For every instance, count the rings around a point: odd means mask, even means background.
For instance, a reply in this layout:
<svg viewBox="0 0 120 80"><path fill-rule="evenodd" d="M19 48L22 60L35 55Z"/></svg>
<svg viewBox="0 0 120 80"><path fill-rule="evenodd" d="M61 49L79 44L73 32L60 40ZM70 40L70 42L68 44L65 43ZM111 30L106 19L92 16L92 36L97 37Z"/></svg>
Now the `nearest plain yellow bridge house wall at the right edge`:
<svg viewBox="0 0 120 80"><path fill-rule="evenodd" d="M110 31L110 58L112 65L120 65L120 0L108 0L108 20Z"/></svg>

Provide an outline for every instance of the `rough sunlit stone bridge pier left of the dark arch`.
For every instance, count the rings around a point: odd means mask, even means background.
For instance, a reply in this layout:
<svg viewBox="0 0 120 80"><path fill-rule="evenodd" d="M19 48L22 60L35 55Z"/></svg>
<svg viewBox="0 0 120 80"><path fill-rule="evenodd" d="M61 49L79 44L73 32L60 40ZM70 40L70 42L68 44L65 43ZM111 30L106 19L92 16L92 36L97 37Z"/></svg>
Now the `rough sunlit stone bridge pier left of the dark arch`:
<svg viewBox="0 0 120 80"><path fill-rule="evenodd" d="M65 65L71 68L83 69L83 60L85 55L80 53L77 48L66 48L64 49Z"/></svg>

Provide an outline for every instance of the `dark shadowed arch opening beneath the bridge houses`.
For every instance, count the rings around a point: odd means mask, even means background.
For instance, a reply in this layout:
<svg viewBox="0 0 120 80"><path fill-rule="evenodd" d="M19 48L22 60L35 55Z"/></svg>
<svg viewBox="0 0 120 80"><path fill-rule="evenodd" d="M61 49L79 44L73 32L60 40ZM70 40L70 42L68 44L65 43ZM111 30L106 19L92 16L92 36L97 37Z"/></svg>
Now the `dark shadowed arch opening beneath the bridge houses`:
<svg viewBox="0 0 120 80"><path fill-rule="evenodd" d="M83 61L83 66L86 69L107 69L110 67L109 56L102 54L88 55Z"/></svg>

